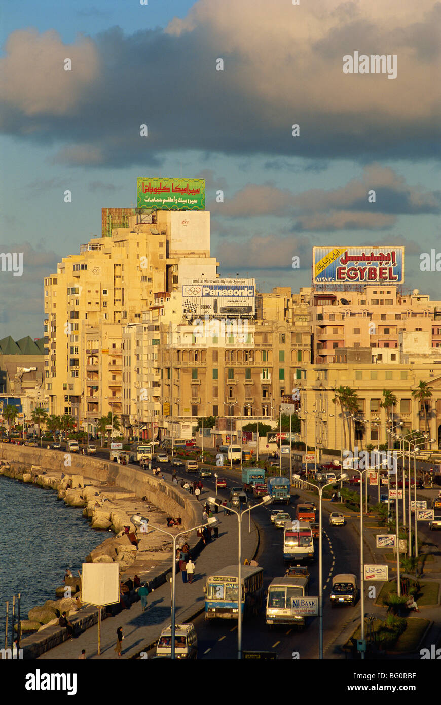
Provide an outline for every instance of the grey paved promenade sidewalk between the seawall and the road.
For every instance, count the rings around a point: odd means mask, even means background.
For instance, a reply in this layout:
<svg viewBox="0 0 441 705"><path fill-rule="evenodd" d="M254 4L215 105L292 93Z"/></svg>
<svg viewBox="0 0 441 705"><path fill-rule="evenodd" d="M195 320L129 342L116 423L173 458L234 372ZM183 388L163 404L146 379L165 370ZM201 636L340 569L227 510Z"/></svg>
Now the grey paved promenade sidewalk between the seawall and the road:
<svg viewBox="0 0 441 705"><path fill-rule="evenodd" d="M227 517L219 512L219 537L213 539L199 556L194 559L195 573L192 584L182 583L180 573L176 575L176 623L190 621L204 610L204 587L206 577L226 565L237 565L237 517ZM248 522L242 525L242 563L245 558L254 557L259 544L259 534L253 522L251 533ZM170 568L171 570L171 568ZM101 622L101 654L97 654L98 625L90 627L73 641L68 640L55 646L39 656L42 659L75 659L81 650L86 650L86 658L118 659L113 648L116 644L117 627L123 627L123 658L135 658L141 651L147 651L156 642L161 630L170 624L170 584L150 592L147 610L141 611L141 602L132 604L115 617L108 617Z"/></svg>

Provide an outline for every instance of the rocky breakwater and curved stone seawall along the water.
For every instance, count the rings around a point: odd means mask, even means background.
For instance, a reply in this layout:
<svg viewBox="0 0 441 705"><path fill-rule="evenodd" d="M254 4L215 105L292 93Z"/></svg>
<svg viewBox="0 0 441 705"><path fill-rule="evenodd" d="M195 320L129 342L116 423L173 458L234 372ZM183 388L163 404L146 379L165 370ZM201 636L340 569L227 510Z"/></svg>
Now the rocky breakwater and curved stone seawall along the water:
<svg viewBox="0 0 441 705"><path fill-rule="evenodd" d="M0 448L0 454L1 450L3 449ZM17 450L27 451L31 448L18 446L14 448L14 455L19 455ZM46 453L50 454L50 451ZM142 471L123 466L123 472L120 472L120 466L117 464L109 465L116 467L108 468L105 479L102 468L96 473L92 469L92 474L98 476L94 479L77 472L83 470L82 467L72 467L71 470L76 472L66 474L60 470L54 472L49 468L43 469L42 465L29 467L13 460L0 465L0 474L57 491L58 498L66 504L82 507L83 515L91 522L92 528L116 534L91 551L86 557L86 562L116 562L119 565L121 580L133 577L136 573L142 581L145 580L149 584L150 589L154 588L164 582L171 568L173 543L171 537L154 531L153 527L166 528L167 515L180 516L182 519L180 527L166 529L172 535L201 524L201 505L180 488L147 476ZM119 486L116 485L116 480L120 483ZM130 489L127 489L128 486ZM153 498L154 503L148 496ZM149 526L152 527L148 534L138 534L135 541L125 532L125 527L128 527L130 534L137 532L130 521L133 514L147 515ZM185 534L183 538L191 548L197 548L199 539L195 532ZM56 589L55 600L47 600L44 605L29 611L28 619L21 621L23 634L29 634L20 642L25 658L36 658L67 638L66 629L58 625L63 611L66 611L76 630L84 630L97 623L97 608L82 605L80 595L80 576L67 578L65 584ZM103 611L103 617L105 616Z"/></svg>

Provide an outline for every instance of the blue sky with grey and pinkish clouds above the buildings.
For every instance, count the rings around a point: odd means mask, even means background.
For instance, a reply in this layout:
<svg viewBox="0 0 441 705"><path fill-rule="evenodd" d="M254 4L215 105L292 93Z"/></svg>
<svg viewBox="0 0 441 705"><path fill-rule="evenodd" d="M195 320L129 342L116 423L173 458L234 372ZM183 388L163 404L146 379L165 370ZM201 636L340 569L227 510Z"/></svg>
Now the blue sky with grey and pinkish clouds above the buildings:
<svg viewBox="0 0 441 705"><path fill-rule="evenodd" d="M0 338L42 336L44 277L137 176L206 179L221 276L296 291L314 245L404 245L404 290L440 300L420 269L441 252L440 20L433 0L4 0L0 253L23 275L0 271ZM396 78L343 73L356 51Z"/></svg>

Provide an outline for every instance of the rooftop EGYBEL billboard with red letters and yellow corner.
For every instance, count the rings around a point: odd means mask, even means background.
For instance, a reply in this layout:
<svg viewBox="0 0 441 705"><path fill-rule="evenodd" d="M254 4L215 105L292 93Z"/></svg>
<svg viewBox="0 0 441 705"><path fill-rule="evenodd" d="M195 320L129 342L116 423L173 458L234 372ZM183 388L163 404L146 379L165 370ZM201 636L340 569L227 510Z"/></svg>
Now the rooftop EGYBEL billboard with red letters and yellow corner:
<svg viewBox="0 0 441 705"><path fill-rule="evenodd" d="M404 282L404 247L313 247L313 282Z"/></svg>

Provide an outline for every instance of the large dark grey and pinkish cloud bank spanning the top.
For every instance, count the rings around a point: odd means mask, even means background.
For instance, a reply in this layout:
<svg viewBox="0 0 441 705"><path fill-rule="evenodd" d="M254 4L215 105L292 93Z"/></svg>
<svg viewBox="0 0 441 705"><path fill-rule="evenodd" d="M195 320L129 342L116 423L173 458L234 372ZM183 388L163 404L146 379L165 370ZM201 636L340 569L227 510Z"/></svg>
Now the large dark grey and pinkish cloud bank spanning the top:
<svg viewBox="0 0 441 705"><path fill-rule="evenodd" d="M433 0L418 13L414 0L199 0L166 30L131 36L113 27L63 44L53 31L20 30L0 59L1 125L61 143L58 159L74 166L155 164L175 149L321 164L433 159L440 20ZM344 74L354 51L396 54L397 78Z"/></svg>

